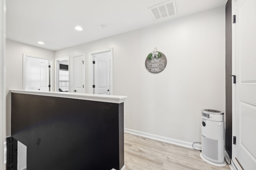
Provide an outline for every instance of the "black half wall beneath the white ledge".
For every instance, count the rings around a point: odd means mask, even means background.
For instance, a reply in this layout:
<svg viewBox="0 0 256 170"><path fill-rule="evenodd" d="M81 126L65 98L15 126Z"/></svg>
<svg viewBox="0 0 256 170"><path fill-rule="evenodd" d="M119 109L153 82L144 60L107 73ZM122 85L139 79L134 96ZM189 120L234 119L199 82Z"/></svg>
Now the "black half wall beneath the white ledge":
<svg viewBox="0 0 256 170"><path fill-rule="evenodd" d="M124 105L12 93L12 137L27 170L120 170Z"/></svg>

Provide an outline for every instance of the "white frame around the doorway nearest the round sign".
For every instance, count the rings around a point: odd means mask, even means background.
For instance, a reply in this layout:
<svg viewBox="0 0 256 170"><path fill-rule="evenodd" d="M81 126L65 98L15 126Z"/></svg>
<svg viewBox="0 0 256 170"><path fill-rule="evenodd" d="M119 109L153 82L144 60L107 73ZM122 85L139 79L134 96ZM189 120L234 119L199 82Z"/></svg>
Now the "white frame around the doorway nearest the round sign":
<svg viewBox="0 0 256 170"><path fill-rule="evenodd" d="M97 51L92 51L88 55L88 93L93 94L93 82L94 82L94 67L92 61L94 60L94 55L98 53L110 52L111 53L111 61L110 61L110 95L113 95L113 48L102 49Z"/></svg>

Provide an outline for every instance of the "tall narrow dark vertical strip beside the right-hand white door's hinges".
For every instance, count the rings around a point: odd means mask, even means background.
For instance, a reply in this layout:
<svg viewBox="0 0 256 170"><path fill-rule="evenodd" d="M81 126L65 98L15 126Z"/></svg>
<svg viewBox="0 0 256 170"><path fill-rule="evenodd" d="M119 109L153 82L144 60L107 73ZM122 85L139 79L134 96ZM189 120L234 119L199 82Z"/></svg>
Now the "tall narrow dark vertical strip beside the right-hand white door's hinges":
<svg viewBox="0 0 256 170"><path fill-rule="evenodd" d="M232 4L226 4L226 148L232 155Z"/></svg>

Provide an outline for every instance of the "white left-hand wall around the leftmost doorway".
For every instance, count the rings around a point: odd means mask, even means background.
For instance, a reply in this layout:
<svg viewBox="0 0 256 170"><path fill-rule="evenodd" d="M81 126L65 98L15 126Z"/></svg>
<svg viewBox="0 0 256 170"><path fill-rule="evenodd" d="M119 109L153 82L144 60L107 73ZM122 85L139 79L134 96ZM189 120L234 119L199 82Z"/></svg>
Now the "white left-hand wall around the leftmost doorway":
<svg viewBox="0 0 256 170"><path fill-rule="evenodd" d="M23 53L54 59L54 51L6 40L6 130L11 135L10 89L23 89Z"/></svg>

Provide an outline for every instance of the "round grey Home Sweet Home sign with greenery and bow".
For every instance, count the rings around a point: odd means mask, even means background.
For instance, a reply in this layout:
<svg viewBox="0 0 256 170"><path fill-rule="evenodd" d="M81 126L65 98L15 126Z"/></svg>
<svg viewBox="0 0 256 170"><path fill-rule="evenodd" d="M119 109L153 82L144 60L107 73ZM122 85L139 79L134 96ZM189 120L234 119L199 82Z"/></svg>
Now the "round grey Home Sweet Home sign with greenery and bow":
<svg viewBox="0 0 256 170"><path fill-rule="evenodd" d="M149 72L159 73L166 67L167 59L165 55L155 48L152 53L148 54L145 61L145 66Z"/></svg>

